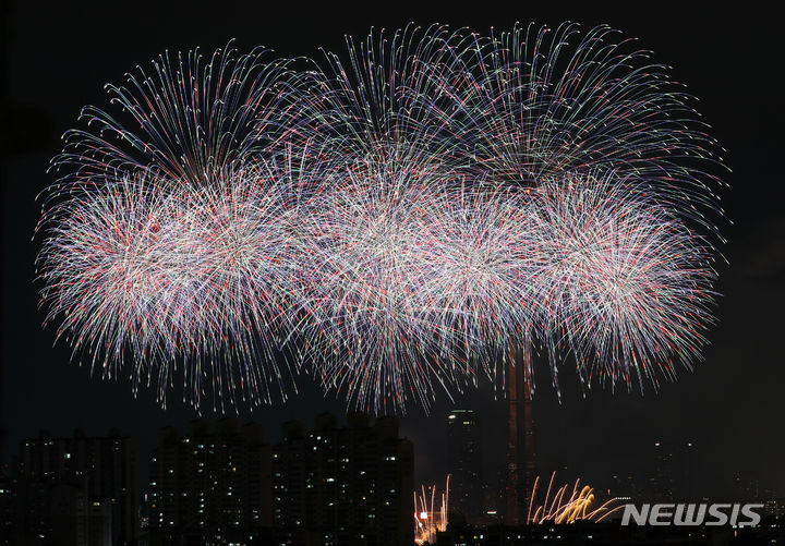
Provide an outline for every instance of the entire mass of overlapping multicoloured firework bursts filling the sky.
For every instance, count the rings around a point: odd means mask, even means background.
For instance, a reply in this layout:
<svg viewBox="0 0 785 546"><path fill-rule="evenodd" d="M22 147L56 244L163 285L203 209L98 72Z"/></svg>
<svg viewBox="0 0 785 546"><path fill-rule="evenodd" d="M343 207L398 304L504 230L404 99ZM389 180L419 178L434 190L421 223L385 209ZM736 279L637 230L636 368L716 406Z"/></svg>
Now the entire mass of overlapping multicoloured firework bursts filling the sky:
<svg viewBox="0 0 785 546"><path fill-rule="evenodd" d="M718 148L615 36L409 26L304 71L161 56L53 160L47 321L161 400L182 366L197 407L269 402L304 367L427 408L520 344L554 383L566 355L587 385L673 378L712 324Z"/></svg>

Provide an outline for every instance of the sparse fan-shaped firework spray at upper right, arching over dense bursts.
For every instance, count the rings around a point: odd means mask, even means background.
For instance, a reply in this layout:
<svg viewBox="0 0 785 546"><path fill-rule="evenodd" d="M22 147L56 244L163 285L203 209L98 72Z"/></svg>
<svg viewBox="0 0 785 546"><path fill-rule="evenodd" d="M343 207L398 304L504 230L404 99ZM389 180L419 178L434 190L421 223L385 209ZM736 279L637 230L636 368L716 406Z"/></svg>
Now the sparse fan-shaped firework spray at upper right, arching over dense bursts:
<svg viewBox="0 0 785 546"><path fill-rule="evenodd" d="M449 120L484 178L536 187L568 172L616 173L716 234L721 148L696 99L635 41L573 23L474 35L466 77L443 80L436 100L419 98Z"/></svg>

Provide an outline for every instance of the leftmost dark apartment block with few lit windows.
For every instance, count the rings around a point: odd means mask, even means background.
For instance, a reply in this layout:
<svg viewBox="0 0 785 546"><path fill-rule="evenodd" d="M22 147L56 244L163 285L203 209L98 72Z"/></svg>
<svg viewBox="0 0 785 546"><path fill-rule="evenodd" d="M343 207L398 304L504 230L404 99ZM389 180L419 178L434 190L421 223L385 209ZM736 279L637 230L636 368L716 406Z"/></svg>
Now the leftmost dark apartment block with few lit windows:
<svg viewBox="0 0 785 546"><path fill-rule="evenodd" d="M137 544L136 452L135 440L117 429L105 437L76 429L70 438L41 432L24 440L16 492L20 529L34 544Z"/></svg>

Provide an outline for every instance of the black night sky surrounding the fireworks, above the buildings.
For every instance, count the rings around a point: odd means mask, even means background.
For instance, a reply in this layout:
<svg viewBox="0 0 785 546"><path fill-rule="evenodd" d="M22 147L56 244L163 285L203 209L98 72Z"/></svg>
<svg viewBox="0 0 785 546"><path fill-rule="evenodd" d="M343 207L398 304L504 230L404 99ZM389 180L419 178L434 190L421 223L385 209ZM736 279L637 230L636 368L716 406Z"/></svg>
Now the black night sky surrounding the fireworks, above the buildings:
<svg viewBox="0 0 785 546"><path fill-rule="evenodd" d="M595 2L591 10L564 2L511 2L494 3L492 12L483 11L490 4L482 2L444 10L379 2L361 11L292 2L276 13L266 2L143 4L52 2L43 8L17 1L9 9L5 93L12 107L32 112L20 131L44 141L37 151L7 157L2 173L5 457L39 428L70 435L76 426L94 435L117 426L140 438L144 457L159 426L182 427L195 416L174 397L164 411L148 391L134 399L124 379L90 378L88 369L69 362L65 347L52 348L53 332L40 326L33 270L39 243L31 241L39 211L35 196L52 181L46 168L59 135L74 125L83 105L102 104L105 83L120 82L125 71L164 49L209 51L232 37L241 50L265 45L286 57L313 56L319 46L340 50L345 34L363 36L371 26L395 28L408 21L485 32L492 25L510 28L516 21L555 26L571 20L584 26L608 23L639 37L701 99L699 109L733 169L723 198L734 223L724 229L730 265L720 269L724 295L705 362L659 393L597 389L583 398L565 373L560 404L540 373L534 403L539 464L543 471L567 465L566 477L580 475L602 487L609 473L644 465L655 439L690 439L699 446L706 494L727 492L733 474L741 472L785 495L783 33L773 14L751 8L685 11L687 2L628 2L635 7L624 10ZM265 423L267 438L276 441L288 418L311 423L321 411L342 411L340 401L324 399L307 378L300 383L301 395L288 403L243 411L240 418ZM456 404L480 411L485 459L488 465L502 461L504 403L494 401L485 386ZM443 472L444 422L452 407L442 395L430 416L412 408L402 420L403 433L415 444L418 480L433 481Z"/></svg>

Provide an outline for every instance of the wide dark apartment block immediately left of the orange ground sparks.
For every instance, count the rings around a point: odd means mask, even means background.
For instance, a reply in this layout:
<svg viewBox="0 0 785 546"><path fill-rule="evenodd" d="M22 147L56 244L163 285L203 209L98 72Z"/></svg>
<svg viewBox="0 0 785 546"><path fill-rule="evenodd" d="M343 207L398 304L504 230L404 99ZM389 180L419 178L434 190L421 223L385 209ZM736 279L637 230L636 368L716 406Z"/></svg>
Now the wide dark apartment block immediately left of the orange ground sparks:
<svg viewBox="0 0 785 546"><path fill-rule="evenodd" d="M275 526L286 539L313 544L397 545L413 541L413 446L398 420L329 413L306 430L283 425L273 449Z"/></svg>

